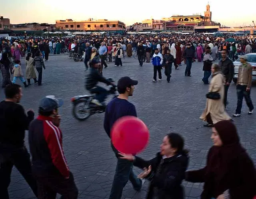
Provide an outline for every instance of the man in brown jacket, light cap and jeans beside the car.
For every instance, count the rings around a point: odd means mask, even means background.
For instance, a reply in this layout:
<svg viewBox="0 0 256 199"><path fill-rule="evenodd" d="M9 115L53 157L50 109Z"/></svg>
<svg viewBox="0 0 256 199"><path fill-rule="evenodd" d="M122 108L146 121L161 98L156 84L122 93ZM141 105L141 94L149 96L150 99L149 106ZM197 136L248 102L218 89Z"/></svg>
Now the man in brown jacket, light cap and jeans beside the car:
<svg viewBox="0 0 256 199"><path fill-rule="evenodd" d="M246 104L249 107L249 115L252 114L252 110L254 109L250 97L250 88L252 85L252 66L250 63L247 63L246 55L240 55L239 57L241 65L238 69L238 79L236 85L237 106L236 114L233 115L234 117L239 117L241 115L243 98L245 98Z"/></svg>

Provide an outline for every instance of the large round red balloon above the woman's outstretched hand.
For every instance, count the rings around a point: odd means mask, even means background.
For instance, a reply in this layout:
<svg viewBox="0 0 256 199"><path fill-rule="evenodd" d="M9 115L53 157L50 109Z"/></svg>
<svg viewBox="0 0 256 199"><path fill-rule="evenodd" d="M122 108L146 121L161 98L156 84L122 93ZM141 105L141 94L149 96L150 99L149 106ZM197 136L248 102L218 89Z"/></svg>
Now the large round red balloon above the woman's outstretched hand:
<svg viewBox="0 0 256 199"><path fill-rule="evenodd" d="M124 154L141 152L149 140L148 127L134 116L124 116L116 120L110 135L114 147Z"/></svg>

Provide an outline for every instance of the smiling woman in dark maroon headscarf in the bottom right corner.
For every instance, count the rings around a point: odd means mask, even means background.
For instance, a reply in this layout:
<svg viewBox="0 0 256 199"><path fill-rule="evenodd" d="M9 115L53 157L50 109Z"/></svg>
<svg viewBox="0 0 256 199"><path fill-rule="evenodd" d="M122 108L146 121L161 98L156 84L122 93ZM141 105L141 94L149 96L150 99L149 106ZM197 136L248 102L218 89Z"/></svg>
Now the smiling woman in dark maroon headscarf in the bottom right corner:
<svg viewBox="0 0 256 199"><path fill-rule="evenodd" d="M229 120L217 122L211 138L206 166L187 171L185 179L204 182L201 199L252 199L256 196L256 171L240 144L236 126Z"/></svg>

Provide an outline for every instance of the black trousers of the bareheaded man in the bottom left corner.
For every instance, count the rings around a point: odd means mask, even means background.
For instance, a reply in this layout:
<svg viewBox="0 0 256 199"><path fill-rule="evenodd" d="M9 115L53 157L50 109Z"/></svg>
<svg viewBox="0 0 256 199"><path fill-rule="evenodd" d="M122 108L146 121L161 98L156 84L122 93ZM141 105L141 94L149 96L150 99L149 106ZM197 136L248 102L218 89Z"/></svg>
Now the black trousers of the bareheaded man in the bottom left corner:
<svg viewBox="0 0 256 199"><path fill-rule="evenodd" d="M30 155L25 146L17 148L0 144L0 198L9 199L8 186L15 166L37 196L36 180L31 171Z"/></svg>

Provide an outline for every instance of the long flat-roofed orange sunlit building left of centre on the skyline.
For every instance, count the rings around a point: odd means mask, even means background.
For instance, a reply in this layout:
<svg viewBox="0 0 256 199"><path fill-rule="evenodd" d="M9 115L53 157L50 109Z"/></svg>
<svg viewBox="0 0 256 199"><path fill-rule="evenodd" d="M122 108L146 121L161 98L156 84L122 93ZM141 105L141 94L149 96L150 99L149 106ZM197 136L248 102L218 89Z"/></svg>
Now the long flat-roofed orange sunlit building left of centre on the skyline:
<svg viewBox="0 0 256 199"><path fill-rule="evenodd" d="M56 20L55 26L62 30L81 31L124 31L125 24L120 21L88 19L87 21L73 21L72 19Z"/></svg>

